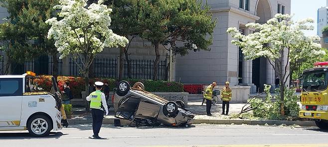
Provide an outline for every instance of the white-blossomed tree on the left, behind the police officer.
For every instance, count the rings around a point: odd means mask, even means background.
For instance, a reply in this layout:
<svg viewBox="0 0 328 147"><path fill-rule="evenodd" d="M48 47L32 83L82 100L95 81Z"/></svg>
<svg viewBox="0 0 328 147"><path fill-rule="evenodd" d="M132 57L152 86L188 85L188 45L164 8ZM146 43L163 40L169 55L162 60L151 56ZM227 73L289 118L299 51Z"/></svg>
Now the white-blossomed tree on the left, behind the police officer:
<svg viewBox="0 0 328 147"><path fill-rule="evenodd" d="M87 5L88 0L59 0L60 9L58 20L50 18L46 23L51 25L48 31L48 39L55 40L55 46L61 54L60 59L72 56L75 63L82 62L78 67L85 75L85 90L88 91L89 67L97 53L105 47L124 47L128 39L119 36L109 28L111 25L111 8L98 3Z"/></svg>

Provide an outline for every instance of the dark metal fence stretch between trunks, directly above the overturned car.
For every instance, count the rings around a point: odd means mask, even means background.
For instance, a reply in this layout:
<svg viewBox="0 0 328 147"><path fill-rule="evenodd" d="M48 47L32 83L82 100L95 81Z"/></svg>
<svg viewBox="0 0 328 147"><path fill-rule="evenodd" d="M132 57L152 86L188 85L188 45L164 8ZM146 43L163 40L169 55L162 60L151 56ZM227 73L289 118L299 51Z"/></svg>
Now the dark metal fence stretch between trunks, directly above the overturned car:
<svg viewBox="0 0 328 147"><path fill-rule="evenodd" d="M153 79L154 76L154 60L131 60L131 76L136 79ZM162 60L158 66L158 79L166 80L167 60ZM124 78L128 78L128 63L124 64Z"/></svg>

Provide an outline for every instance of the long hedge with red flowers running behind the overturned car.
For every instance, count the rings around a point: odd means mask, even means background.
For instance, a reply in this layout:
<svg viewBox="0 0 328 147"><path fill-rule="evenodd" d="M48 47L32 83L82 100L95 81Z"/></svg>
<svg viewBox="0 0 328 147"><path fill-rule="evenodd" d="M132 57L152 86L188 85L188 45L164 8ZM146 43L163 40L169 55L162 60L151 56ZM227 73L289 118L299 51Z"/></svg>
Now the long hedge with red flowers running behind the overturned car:
<svg viewBox="0 0 328 147"><path fill-rule="evenodd" d="M50 91L52 86L51 75L40 75L41 78L36 79L36 83L39 87ZM73 93L73 98L81 98L81 92L85 89L84 78L73 76L58 76L58 86L63 91L64 82L69 82L69 87ZM145 85L145 90L150 92L183 92L183 84L174 81L161 81L150 79L124 79L130 83L131 86L136 82L142 82ZM113 91L117 84L120 82L118 79L113 78L93 78L89 80L89 83L93 84L95 81L108 82L110 91Z"/></svg>

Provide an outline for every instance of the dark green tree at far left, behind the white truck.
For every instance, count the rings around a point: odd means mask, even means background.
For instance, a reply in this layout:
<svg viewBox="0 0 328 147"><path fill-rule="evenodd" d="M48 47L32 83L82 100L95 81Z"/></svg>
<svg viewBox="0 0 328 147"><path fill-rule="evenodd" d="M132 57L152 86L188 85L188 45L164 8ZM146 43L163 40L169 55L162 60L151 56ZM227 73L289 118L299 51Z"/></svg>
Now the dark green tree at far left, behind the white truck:
<svg viewBox="0 0 328 147"><path fill-rule="evenodd" d="M9 40L5 48L9 63L24 63L42 54L52 56L55 77L58 73L58 52L53 40L47 39L50 28L45 21L55 15L53 6L58 0L0 0L1 6L7 8L11 23L1 27L1 40Z"/></svg>

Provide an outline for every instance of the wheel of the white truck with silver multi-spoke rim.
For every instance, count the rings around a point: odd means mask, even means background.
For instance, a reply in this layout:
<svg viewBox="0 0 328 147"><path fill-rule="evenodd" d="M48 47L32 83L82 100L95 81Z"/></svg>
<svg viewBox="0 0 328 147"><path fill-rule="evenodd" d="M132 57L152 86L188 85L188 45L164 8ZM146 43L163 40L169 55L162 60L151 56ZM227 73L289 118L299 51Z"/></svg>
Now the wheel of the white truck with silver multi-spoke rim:
<svg viewBox="0 0 328 147"><path fill-rule="evenodd" d="M34 137L48 136L52 130L52 121L45 115L34 115L27 122L27 130Z"/></svg>

